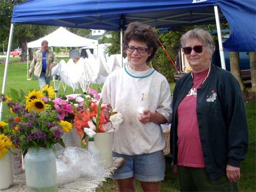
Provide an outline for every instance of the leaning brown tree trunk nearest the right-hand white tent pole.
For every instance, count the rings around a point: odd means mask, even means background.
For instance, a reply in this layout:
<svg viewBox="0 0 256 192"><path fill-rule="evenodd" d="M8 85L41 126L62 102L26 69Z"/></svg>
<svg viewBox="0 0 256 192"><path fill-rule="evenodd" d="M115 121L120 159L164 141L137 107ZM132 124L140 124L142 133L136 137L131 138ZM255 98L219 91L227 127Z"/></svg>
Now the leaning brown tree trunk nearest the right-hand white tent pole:
<svg viewBox="0 0 256 192"><path fill-rule="evenodd" d="M244 82L241 77L241 71L240 71L240 63L239 63L239 52L229 52L230 55L230 71L233 74L234 77L238 80L241 90L246 95L246 89L244 86Z"/></svg>

